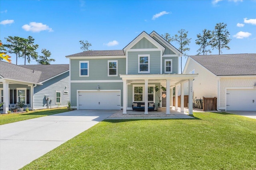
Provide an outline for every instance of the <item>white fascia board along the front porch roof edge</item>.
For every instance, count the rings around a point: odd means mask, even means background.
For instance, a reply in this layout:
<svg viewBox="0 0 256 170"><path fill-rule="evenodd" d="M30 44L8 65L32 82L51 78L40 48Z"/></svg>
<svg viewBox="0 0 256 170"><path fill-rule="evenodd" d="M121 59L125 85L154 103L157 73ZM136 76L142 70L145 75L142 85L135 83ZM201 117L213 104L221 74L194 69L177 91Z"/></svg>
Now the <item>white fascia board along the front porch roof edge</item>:
<svg viewBox="0 0 256 170"><path fill-rule="evenodd" d="M119 74L123 80L194 79L198 74Z"/></svg>

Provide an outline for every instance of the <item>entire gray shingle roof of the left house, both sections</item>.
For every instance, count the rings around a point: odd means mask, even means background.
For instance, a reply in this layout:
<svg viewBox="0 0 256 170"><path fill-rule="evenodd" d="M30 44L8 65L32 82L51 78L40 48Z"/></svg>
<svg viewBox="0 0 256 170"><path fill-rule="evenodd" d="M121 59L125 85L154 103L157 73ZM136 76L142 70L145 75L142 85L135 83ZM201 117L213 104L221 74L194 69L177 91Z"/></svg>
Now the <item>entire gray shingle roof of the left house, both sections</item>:
<svg viewBox="0 0 256 170"><path fill-rule="evenodd" d="M0 76L22 82L40 83L69 70L69 64L15 65L0 61Z"/></svg>

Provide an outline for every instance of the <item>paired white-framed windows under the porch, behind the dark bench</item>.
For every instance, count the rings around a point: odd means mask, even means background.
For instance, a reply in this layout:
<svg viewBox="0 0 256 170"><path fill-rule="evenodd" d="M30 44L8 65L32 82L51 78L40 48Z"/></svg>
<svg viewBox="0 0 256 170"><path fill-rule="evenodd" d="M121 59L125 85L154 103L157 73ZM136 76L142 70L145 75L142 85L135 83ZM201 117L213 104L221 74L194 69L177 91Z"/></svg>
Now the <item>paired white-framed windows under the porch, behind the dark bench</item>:
<svg viewBox="0 0 256 170"><path fill-rule="evenodd" d="M155 91L153 84L148 84L148 102L155 102ZM144 102L144 88L145 85L133 85L133 96L132 100L134 102Z"/></svg>

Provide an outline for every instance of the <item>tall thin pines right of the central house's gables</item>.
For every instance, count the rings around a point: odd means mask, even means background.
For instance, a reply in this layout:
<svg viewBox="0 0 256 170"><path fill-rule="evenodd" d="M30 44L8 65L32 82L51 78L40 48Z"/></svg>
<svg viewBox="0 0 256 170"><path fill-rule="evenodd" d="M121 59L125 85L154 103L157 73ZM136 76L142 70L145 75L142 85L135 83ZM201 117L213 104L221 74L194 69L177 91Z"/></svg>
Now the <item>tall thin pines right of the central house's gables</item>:
<svg viewBox="0 0 256 170"><path fill-rule="evenodd" d="M229 38L230 33L226 29L227 24L225 23L217 23L214 27L214 30L202 30L202 34L197 34L196 37L196 45L199 45L199 49L197 50L197 55L207 55L207 53L212 53L212 50L217 49L220 53L222 53L222 49L230 49L228 43L231 41ZM185 29L180 29L178 34L175 34L171 37L169 33L165 33L161 35L166 41L169 43L171 41L176 42L179 45L179 51L184 54L185 57L188 56L186 51L189 51L188 47L191 41L191 38L188 38L188 31ZM180 62L180 69L182 72L182 60Z"/></svg>

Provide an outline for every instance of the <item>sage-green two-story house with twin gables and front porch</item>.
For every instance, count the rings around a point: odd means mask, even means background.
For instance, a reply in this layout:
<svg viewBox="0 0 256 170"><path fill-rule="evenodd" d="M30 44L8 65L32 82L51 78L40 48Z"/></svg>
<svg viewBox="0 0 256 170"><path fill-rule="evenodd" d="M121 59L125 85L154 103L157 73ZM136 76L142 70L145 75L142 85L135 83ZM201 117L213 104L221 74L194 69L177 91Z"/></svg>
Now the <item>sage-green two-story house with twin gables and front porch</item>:
<svg viewBox="0 0 256 170"><path fill-rule="evenodd" d="M154 87L163 85L166 108L172 105L172 88L192 80L178 74L182 53L155 31L142 32L122 50L85 51L70 59L70 101L77 109L132 109L133 102L158 104ZM192 93L190 93L192 114ZM177 106L177 105L176 105ZM178 107L176 107L178 109ZM181 111L184 111L181 108ZM170 114L170 109L166 109Z"/></svg>

